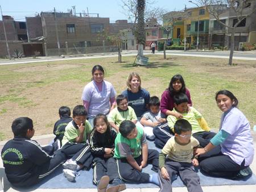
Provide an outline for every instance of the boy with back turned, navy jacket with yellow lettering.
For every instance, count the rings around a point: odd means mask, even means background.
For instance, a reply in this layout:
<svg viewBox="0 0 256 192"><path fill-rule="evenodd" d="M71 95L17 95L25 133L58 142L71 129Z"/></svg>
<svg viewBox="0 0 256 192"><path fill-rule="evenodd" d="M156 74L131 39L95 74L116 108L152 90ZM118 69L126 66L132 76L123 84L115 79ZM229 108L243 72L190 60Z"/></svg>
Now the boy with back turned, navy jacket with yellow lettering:
<svg viewBox="0 0 256 192"><path fill-rule="evenodd" d="M5 144L1 157L7 180L15 187L34 185L67 159L60 150L49 156L44 148L31 140L35 133L32 119L17 118L11 128L14 139Z"/></svg>

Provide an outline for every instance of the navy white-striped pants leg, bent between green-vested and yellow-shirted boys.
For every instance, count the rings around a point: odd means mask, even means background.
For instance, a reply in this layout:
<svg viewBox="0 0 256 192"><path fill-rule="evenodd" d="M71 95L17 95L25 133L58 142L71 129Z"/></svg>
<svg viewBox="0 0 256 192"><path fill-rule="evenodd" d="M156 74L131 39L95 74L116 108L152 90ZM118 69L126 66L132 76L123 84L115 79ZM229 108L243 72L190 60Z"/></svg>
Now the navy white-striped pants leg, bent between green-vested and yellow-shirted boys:
<svg viewBox="0 0 256 192"><path fill-rule="evenodd" d="M156 147L163 148L167 141L174 136L168 123L162 123L159 126L153 128L153 133L155 135L155 145Z"/></svg>

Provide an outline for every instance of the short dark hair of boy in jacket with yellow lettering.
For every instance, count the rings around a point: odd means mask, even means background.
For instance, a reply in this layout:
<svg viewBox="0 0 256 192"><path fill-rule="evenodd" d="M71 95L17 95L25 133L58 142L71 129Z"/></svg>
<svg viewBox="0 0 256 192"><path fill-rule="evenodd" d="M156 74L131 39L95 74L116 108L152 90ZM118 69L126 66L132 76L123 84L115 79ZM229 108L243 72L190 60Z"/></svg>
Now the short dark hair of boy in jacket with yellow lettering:
<svg viewBox="0 0 256 192"><path fill-rule="evenodd" d="M11 130L13 130L14 136L26 137L27 130L33 129L33 121L27 117L16 118L11 124Z"/></svg>

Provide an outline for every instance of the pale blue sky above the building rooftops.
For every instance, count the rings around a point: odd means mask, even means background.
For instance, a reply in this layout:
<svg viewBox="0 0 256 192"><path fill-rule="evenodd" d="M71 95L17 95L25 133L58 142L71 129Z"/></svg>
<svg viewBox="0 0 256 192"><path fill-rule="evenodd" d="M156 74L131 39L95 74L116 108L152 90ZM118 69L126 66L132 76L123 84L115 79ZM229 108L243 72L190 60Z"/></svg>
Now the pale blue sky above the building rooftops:
<svg viewBox="0 0 256 192"><path fill-rule="evenodd" d="M152 1L152 0L151 0ZM10 15L17 21L25 21L26 16L35 16L41 11L68 12L72 6L76 6L76 12L98 13L100 17L109 17L110 22L118 19L127 19L123 14L121 0L0 0L3 15ZM183 10L185 5L193 7L188 0L155 0L151 6L161 7L168 11ZM2 20L2 18L0 18Z"/></svg>

